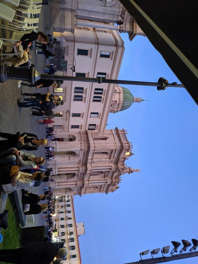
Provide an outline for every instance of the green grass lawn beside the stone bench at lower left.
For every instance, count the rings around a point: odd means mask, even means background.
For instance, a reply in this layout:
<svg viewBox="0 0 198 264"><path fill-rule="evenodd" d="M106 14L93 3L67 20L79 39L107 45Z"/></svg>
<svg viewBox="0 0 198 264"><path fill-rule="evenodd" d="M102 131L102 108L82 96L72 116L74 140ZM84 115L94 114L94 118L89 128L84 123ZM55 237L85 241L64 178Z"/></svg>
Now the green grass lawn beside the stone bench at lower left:
<svg viewBox="0 0 198 264"><path fill-rule="evenodd" d="M12 204L12 197L9 195L6 203L6 209L8 210L8 224L6 230L1 229L3 235L3 241L0 243L0 249L14 249L21 246L19 235L21 236L21 227L16 217L17 213L15 207ZM6 264L1 262L1 264Z"/></svg>

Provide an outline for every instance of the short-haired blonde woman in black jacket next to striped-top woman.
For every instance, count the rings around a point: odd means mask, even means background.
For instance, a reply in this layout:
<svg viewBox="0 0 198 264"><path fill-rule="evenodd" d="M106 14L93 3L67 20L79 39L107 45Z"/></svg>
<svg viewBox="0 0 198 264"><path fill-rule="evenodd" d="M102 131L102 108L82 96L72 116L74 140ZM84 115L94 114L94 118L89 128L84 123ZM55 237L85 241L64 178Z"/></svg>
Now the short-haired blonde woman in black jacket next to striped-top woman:
<svg viewBox="0 0 198 264"><path fill-rule="evenodd" d="M47 145L46 139L38 139L37 135L31 133L16 134L0 132L0 137L7 138L0 140L0 151L7 150L9 148L17 148L18 150L38 150L38 146Z"/></svg>

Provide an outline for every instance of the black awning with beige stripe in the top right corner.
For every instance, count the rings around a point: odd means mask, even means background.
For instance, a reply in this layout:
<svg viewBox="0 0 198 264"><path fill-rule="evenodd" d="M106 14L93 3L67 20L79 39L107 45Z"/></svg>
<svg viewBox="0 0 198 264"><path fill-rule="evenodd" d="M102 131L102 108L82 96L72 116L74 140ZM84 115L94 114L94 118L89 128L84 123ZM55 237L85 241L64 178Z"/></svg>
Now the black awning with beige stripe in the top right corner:
<svg viewBox="0 0 198 264"><path fill-rule="evenodd" d="M197 1L119 1L198 104Z"/></svg>

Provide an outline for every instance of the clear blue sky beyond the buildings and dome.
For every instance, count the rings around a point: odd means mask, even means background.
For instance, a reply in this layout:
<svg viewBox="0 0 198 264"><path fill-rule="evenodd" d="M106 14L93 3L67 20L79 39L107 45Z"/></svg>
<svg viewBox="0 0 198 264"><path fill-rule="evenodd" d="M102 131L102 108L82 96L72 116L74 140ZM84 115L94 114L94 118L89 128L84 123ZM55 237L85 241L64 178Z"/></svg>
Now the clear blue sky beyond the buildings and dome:
<svg viewBox="0 0 198 264"><path fill-rule="evenodd" d="M119 79L180 83L146 37L130 42L128 34L121 36ZM171 240L198 239L198 107L183 88L125 87L149 101L109 114L107 128L128 131L135 155L127 165L141 173L123 175L114 193L75 196L76 218L86 231L79 237L83 264L138 261L141 251L173 248ZM198 258L171 263L195 264Z"/></svg>

